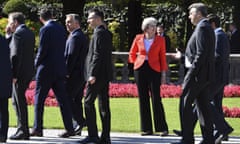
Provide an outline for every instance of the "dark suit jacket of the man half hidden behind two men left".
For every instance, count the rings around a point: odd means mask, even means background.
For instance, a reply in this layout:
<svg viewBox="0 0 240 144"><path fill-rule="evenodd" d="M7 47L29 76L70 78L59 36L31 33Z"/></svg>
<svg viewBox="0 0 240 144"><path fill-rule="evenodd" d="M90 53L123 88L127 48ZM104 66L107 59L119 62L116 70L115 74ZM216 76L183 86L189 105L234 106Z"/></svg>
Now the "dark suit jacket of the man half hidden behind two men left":
<svg viewBox="0 0 240 144"><path fill-rule="evenodd" d="M65 48L67 75L71 80L84 81L84 64L88 50L86 36L81 29L74 30L68 37Z"/></svg>

